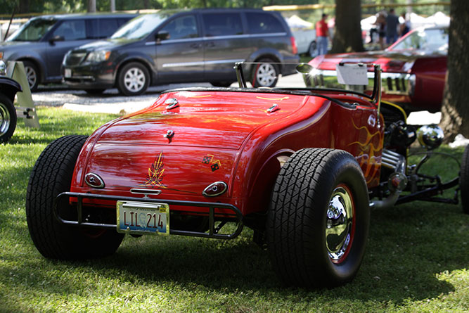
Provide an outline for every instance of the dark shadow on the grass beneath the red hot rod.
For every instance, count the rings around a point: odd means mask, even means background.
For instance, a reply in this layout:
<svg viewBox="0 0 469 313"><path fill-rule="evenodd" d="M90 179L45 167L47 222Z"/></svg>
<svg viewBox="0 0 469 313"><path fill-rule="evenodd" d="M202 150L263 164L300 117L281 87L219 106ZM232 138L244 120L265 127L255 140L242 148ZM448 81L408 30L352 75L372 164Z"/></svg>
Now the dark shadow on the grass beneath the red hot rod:
<svg viewBox="0 0 469 313"><path fill-rule="evenodd" d="M467 266L467 254L461 247L467 244L468 232L468 216L457 206L427 207L418 203L374 211L359 274L345 286L323 290L281 286L266 251L250 241L250 230L234 241L127 237L112 257L47 262L51 266L89 269L122 283L155 284L155 288L169 282L227 294L255 290L262 298L298 297L324 302L359 299L399 305L406 299L430 299L454 291L451 283L440 281L437 274Z"/></svg>

